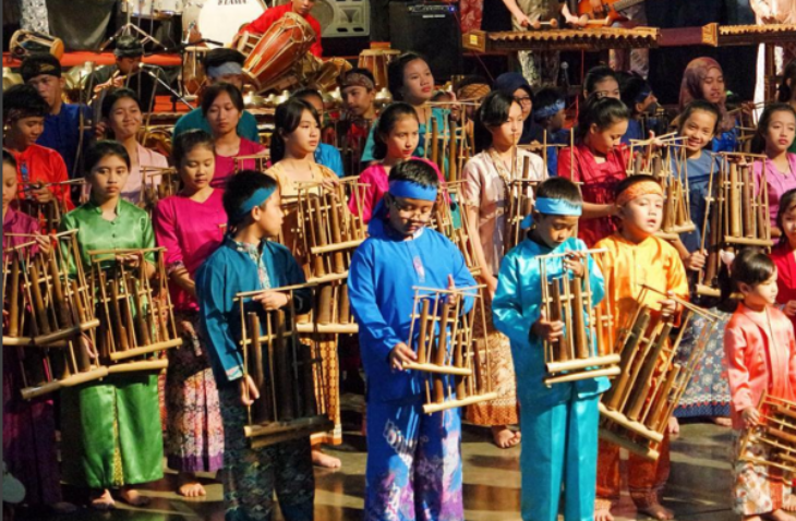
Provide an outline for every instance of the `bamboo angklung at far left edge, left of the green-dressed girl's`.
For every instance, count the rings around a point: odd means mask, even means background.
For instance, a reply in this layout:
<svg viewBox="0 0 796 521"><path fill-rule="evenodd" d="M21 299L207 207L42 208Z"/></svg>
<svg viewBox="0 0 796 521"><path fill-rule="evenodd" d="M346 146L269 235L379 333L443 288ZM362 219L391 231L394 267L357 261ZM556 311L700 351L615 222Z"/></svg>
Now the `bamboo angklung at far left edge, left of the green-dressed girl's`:
<svg viewBox="0 0 796 521"><path fill-rule="evenodd" d="M108 375L89 335L99 326L80 262L77 231L34 235L3 250L3 346L15 349L22 398L56 391ZM13 348L12 348L13 347Z"/></svg>

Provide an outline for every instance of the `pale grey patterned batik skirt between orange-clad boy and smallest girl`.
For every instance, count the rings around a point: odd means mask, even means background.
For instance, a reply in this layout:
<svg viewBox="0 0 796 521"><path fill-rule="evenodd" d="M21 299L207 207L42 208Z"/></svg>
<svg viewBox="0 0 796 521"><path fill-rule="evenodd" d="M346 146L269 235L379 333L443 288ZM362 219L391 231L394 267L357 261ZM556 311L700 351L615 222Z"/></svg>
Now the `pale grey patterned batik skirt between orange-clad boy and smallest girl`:
<svg viewBox="0 0 796 521"><path fill-rule="evenodd" d="M724 354L724 328L733 315L715 308L711 312L719 315L720 319L708 338L699 365L674 411L676 417L729 416L731 396L727 359ZM704 317L697 316L692 319L677 351L680 363L685 363L691 355L697 339L707 326L708 320Z"/></svg>

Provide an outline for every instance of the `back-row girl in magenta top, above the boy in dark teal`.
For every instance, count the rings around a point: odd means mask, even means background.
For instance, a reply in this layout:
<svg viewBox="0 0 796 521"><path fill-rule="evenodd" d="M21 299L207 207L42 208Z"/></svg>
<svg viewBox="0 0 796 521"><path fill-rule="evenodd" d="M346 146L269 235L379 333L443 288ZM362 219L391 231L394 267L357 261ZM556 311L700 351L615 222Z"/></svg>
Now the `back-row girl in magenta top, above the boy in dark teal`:
<svg viewBox="0 0 796 521"><path fill-rule="evenodd" d="M265 150L260 143L238 135L238 122L243 114L243 108L240 89L229 83L210 85L202 95L202 113L210 125L216 147L214 187L224 187L227 178L234 173L236 157L253 156ZM241 167L241 170L255 169L253 159L243 161Z"/></svg>

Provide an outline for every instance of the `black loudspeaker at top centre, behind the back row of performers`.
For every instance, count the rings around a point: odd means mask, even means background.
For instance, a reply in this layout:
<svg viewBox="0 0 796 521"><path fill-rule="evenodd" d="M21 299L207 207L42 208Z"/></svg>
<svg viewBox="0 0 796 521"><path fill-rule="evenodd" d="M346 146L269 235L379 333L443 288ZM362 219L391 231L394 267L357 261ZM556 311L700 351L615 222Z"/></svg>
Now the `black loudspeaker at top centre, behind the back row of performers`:
<svg viewBox="0 0 796 521"><path fill-rule="evenodd" d="M437 84L461 74L461 27L456 3L390 1L389 39L394 49L423 54Z"/></svg>

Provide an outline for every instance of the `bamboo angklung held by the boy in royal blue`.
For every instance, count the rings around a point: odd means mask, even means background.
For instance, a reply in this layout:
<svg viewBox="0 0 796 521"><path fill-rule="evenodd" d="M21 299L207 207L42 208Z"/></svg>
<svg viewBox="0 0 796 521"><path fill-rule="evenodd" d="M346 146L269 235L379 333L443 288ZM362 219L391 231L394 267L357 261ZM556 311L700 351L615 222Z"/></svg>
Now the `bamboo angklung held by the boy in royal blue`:
<svg viewBox="0 0 796 521"><path fill-rule="evenodd" d="M426 414L497 398L490 379L492 353L486 338L478 342L483 349L474 349L475 322L486 330L481 288L413 288L414 313L407 343L418 361L403 368L423 373ZM474 302L466 312L467 299Z"/></svg>

